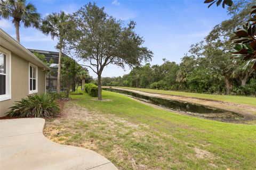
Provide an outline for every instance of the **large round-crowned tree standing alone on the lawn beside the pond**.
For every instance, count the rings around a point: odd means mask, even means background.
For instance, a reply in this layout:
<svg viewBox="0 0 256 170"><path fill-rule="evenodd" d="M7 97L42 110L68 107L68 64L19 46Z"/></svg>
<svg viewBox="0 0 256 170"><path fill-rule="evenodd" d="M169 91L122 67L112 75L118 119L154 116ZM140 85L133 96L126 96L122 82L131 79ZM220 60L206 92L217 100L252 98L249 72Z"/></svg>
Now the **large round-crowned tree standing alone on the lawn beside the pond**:
<svg viewBox="0 0 256 170"><path fill-rule="evenodd" d="M127 27L123 22L109 16L104 8L89 3L72 16L73 31L69 31L67 50L82 58L84 66L90 67L98 75L98 99L101 100L101 74L103 69L114 64L121 68L141 65L150 61L153 53L142 47L143 38L135 33L135 23Z"/></svg>

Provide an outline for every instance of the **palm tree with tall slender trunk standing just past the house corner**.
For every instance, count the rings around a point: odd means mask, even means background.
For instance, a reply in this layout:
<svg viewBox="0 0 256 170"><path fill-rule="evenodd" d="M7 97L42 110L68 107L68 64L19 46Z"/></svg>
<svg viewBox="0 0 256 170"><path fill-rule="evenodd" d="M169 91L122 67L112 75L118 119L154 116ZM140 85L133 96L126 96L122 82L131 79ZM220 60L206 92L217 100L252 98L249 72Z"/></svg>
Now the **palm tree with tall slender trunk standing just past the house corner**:
<svg viewBox="0 0 256 170"><path fill-rule="evenodd" d="M57 93L60 93L60 75L61 75L61 55L62 48L64 46L64 38L69 28L69 15L61 11L60 13L49 14L43 19L41 30L45 35L51 35L52 39L57 37L59 43L57 49L59 49L59 64L58 64L58 77L57 77Z"/></svg>

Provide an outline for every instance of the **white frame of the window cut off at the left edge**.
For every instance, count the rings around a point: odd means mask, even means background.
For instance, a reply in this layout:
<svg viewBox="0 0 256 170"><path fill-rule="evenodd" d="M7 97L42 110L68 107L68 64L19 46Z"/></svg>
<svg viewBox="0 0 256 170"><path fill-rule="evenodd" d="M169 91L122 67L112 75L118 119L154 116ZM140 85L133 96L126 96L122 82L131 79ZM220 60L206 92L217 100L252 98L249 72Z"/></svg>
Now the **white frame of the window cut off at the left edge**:
<svg viewBox="0 0 256 170"><path fill-rule="evenodd" d="M6 66L6 73L5 73L5 94L0 95L0 101L9 100L12 98L12 91L11 91L11 69L12 69L12 55L11 52L3 47L0 46L0 52L5 54L5 66Z"/></svg>

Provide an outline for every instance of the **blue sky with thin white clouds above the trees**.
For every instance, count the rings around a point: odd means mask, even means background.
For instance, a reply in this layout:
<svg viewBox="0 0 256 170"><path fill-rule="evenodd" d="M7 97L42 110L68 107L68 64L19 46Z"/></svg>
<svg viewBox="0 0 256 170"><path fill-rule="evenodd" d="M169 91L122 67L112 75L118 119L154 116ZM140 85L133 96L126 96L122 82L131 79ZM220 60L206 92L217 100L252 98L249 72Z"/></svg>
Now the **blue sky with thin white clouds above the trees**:
<svg viewBox="0 0 256 170"><path fill-rule="evenodd" d="M44 18L47 14L64 11L73 13L89 1L76 0L27 0L37 7L37 11ZM203 0L169 0L169 1L90 1L124 23L130 20L137 23L135 32L145 40L143 46L148 47L153 53L151 65L162 64L163 58L180 63L189 47L201 40L211 29L221 21L229 19L227 10L222 7L207 8ZM15 28L11 21L0 20L0 28L15 39ZM20 27L20 43L26 48L57 51L55 46L58 39L44 35L35 28ZM80 61L81 62L81 61ZM90 69L90 75L96 74ZM115 65L109 65L103 70L102 77L117 77L130 72Z"/></svg>

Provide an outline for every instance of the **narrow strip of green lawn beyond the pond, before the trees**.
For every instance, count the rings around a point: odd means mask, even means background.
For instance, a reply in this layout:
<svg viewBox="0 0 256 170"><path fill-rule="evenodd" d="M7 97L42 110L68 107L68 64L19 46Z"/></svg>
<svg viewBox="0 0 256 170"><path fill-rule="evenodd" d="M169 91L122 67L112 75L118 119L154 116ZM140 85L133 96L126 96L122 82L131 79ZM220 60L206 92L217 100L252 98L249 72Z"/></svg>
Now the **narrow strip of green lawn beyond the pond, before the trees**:
<svg viewBox="0 0 256 170"><path fill-rule="evenodd" d="M234 96L234 95L196 94L196 93L192 93L192 92L142 89L142 88L132 88L132 87L119 87L119 88L132 89L132 90L140 90L140 91L145 91L145 92L153 92L153 93L157 93L157 94L166 94L166 95L196 97L196 98L219 100L219 101L228 101L228 102L231 102L231 103L247 104L247 105L256 106L256 98L255 97Z"/></svg>

